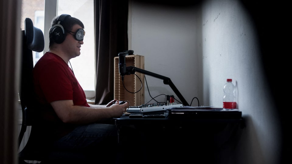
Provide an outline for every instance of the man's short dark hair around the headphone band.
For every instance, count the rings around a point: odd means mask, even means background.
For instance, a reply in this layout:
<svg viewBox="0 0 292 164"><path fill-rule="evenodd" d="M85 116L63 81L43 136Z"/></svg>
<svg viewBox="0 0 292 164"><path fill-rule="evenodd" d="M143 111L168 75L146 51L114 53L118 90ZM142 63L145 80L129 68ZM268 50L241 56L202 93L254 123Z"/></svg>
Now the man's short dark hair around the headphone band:
<svg viewBox="0 0 292 164"><path fill-rule="evenodd" d="M60 17L60 15L59 16L56 16L53 20L52 20L52 23L51 23L51 27L53 27L54 25L56 25L59 21L57 21L57 19ZM65 34L67 33L67 31L71 31L72 30L72 27L74 26L74 25L76 25L76 24L78 24L79 26L81 26L82 27L82 29L84 29L84 25L83 25L83 23L79 20L79 19L77 19L77 18L75 18L75 17L71 17L71 16L69 16L69 17L66 17L61 23L60 23L62 26L63 26L63 28L64 28L64 30L65 30ZM67 30L67 31L66 31ZM49 33L50 33L50 31L49 31ZM51 39L51 38L49 38L50 39L50 43L49 43L49 47L51 47L51 45L53 45L55 42L54 42L54 40L53 39Z"/></svg>

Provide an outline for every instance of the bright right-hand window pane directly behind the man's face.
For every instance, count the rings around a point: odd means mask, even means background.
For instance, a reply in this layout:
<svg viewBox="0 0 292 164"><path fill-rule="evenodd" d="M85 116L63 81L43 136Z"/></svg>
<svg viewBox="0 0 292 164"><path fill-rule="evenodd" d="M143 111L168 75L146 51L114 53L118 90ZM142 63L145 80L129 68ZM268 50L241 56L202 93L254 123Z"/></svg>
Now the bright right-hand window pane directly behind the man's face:
<svg viewBox="0 0 292 164"><path fill-rule="evenodd" d="M95 42L93 0L58 0L57 15L69 14L84 24L84 44L81 54L70 60L75 77L84 90L95 90Z"/></svg>

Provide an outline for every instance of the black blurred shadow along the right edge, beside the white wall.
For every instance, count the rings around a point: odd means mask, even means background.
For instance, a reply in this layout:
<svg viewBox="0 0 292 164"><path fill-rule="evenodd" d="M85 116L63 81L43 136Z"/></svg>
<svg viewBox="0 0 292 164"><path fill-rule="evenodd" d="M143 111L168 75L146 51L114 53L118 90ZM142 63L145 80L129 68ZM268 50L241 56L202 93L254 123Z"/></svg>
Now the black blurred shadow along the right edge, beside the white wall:
<svg viewBox="0 0 292 164"><path fill-rule="evenodd" d="M287 2L284 1L251 1L242 0L242 4L252 17L258 33L261 58L264 67L265 77L269 85L269 90L276 105L275 117L280 117L282 131L282 152L281 163L287 159L290 147L290 137L288 132L288 122L290 117L290 84L284 84L286 77L290 76L290 61L288 60L289 22Z"/></svg>

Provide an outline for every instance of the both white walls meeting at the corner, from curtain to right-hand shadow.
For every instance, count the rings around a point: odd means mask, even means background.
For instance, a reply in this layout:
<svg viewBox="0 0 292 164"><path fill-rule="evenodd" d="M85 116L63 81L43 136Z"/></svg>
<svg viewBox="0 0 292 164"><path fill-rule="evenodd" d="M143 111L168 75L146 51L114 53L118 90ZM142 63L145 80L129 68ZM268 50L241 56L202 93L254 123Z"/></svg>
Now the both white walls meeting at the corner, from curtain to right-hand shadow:
<svg viewBox="0 0 292 164"><path fill-rule="evenodd" d="M236 162L278 163L280 120L263 75L255 25L242 3L208 0L179 8L132 1L129 7L129 49L145 56L145 70L170 77L189 104L198 97L200 105L219 108L223 85L232 78L246 121ZM146 79L152 97L174 94L162 80ZM150 100L145 86L145 102ZM192 106L197 105L194 99Z"/></svg>

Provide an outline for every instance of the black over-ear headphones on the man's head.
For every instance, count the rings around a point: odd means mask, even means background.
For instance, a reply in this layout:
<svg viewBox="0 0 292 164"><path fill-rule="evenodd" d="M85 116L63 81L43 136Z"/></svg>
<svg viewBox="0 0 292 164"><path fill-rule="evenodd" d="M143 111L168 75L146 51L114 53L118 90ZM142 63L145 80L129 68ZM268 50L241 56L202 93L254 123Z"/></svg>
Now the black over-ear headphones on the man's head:
<svg viewBox="0 0 292 164"><path fill-rule="evenodd" d="M65 40L66 32L64 27L61 25L61 22L64 21L67 17L71 17L68 14L62 14L57 19L57 24L50 28L50 40L53 40L55 43L62 43Z"/></svg>

